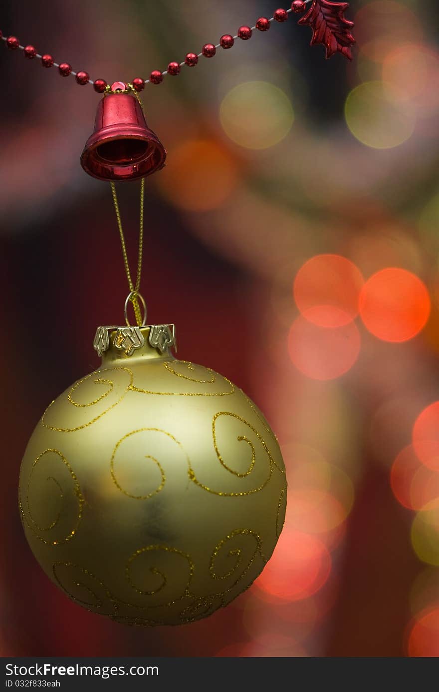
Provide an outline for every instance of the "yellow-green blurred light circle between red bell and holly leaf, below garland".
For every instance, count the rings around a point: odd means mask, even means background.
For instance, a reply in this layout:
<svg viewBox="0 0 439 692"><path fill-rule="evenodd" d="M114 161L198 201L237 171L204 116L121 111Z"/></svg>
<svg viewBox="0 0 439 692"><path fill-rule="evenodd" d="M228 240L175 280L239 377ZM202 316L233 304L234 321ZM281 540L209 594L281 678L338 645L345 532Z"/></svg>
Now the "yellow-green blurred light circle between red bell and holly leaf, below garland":
<svg viewBox="0 0 439 692"><path fill-rule="evenodd" d="M246 149L268 149L279 143L294 119L290 99L270 82L238 84L225 95L220 107L225 134Z"/></svg>

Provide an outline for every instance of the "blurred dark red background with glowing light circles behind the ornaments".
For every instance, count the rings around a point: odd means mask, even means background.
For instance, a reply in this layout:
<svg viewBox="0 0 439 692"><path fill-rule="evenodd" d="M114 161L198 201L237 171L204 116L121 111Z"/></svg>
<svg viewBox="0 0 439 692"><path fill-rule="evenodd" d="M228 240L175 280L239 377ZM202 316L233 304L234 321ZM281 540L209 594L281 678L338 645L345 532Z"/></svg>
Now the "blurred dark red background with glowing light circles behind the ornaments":
<svg viewBox="0 0 439 692"><path fill-rule="evenodd" d="M129 81L275 9L10 0L0 28ZM176 628L86 612L21 530L26 441L97 367L95 327L123 323L128 290L109 185L79 163L100 97L1 42L1 655L439 655L439 9L357 0L346 17L352 63L290 15L142 92L168 151L145 186L148 321L176 322L180 358L258 403L289 484L263 574ZM132 262L138 189L118 188Z"/></svg>

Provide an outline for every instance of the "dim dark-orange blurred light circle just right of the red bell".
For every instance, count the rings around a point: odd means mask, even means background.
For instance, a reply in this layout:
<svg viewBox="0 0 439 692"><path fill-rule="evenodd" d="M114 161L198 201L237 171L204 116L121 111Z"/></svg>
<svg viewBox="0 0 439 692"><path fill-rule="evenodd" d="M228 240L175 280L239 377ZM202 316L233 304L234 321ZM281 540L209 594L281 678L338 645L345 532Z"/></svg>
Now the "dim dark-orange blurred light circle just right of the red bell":
<svg viewBox="0 0 439 692"><path fill-rule="evenodd" d="M214 140L187 140L174 147L157 183L176 206L206 211L222 204L238 183L236 161Z"/></svg>

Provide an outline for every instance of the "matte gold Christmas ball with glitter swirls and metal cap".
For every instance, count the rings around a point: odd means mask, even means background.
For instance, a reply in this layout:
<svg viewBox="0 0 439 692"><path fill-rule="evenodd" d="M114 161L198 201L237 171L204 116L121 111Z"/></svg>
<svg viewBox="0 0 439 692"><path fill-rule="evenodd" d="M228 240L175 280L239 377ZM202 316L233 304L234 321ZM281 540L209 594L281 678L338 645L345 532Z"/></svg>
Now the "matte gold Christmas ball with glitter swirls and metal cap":
<svg viewBox="0 0 439 692"><path fill-rule="evenodd" d="M21 464L37 561L75 603L122 623L179 625L227 605L285 516L261 411L174 345L174 325L97 329L102 365L50 404Z"/></svg>

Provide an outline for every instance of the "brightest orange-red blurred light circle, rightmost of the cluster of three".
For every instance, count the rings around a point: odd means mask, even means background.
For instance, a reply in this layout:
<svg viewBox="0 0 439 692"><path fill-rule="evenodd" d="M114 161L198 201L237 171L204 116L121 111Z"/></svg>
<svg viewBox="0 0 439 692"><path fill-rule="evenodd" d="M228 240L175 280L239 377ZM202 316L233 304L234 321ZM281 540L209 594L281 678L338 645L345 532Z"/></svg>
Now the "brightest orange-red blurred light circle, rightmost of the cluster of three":
<svg viewBox="0 0 439 692"><path fill-rule="evenodd" d="M372 334L384 341L407 341L425 326L431 304L415 274L389 267L373 274L359 296L359 313Z"/></svg>

